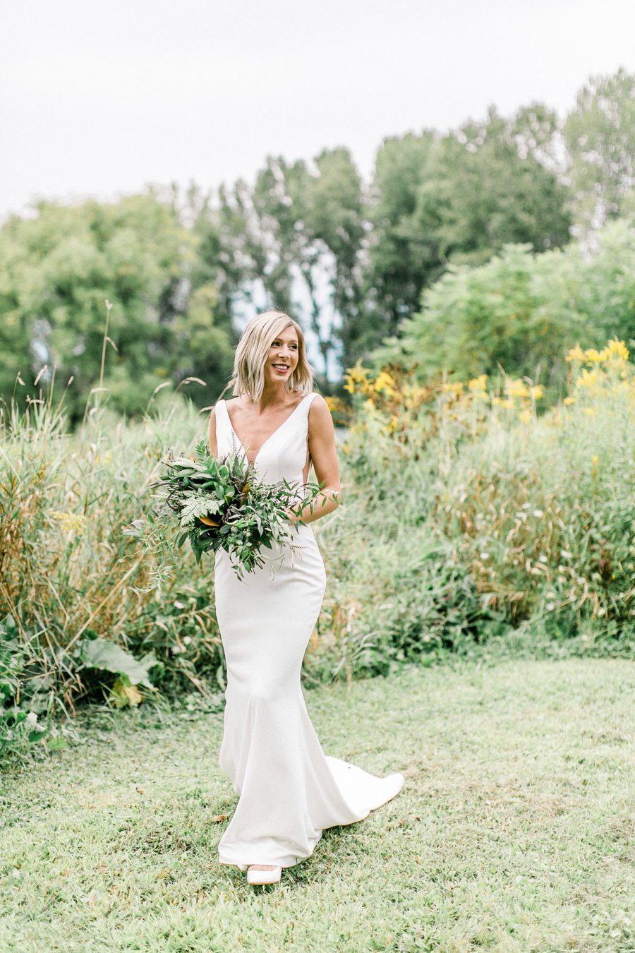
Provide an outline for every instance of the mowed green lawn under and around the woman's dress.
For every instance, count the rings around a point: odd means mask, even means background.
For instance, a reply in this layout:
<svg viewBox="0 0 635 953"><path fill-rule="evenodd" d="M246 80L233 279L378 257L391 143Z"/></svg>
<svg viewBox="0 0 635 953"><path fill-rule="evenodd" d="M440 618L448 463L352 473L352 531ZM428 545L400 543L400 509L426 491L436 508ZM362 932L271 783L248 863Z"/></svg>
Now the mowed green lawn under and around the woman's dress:
<svg viewBox="0 0 635 953"><path fill-rule="evenodd" d="M0 950L635 949L635 666L507 660L307 692L327 753L403 771L281 885L216 862L222 715L116 713L2 783Z"/></svg>

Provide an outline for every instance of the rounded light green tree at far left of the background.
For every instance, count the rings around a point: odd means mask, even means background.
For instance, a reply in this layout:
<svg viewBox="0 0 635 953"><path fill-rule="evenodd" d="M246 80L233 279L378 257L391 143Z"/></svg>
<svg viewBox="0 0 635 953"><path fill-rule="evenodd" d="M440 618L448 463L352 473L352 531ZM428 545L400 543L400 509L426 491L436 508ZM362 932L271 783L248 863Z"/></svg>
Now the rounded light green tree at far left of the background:
<svg viewBox="0 0 635 953"><path fill-rule="evenodd" d="M195 239L169 204L148 193L107 204L41 202L35 211L0 230L0 345L10 349L0 393L13 390L19 371L24 401L37 393L35 377L43 372L42 386L55 368L57 395L73 377L65 405L71 421L80 418L99 383L107 300L105 387L114 409L141 413L159 383L181 379L184 357L196 373L183 333Z"/></svg>

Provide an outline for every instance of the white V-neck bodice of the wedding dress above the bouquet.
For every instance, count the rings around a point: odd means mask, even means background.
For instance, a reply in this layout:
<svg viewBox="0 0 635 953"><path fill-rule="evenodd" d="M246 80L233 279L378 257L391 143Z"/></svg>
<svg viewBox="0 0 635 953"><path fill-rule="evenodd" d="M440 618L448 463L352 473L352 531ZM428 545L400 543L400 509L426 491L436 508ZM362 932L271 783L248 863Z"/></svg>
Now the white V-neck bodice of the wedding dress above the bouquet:
<svg viewBox="0 0 635 953"><path fill-rule="evenodd" d="M303 470L308 458L308 410L316 393L304 396L289 416L268 436L253 463L266 483L304 483ZM216 456L221 459L236 452L247 457L229 419L225 400L216 404Z"/></svg>

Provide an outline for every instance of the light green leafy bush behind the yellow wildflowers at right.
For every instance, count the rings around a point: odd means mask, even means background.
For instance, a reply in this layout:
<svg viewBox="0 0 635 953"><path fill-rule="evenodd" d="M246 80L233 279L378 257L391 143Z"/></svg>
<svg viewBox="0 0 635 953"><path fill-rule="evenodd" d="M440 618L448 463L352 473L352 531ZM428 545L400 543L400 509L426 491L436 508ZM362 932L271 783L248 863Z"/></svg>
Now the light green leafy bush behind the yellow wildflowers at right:
<svg viewBox="0 0 635 953"><path fill-rule="evenodd" d="M421 375L452 371L528 375L557 399L564 356L578 341L602 347L618 335L635 343L635 230L625 221L598 233L589 253L580 243L535 254L507 245L484 265L450 266L422 296L422 309L373 356Z"/></svg>

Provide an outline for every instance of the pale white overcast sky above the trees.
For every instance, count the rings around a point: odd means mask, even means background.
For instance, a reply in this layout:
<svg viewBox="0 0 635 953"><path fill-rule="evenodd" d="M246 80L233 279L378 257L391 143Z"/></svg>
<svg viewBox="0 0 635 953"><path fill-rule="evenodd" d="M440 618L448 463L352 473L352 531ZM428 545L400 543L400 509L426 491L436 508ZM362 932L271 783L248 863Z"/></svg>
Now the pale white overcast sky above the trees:
<svg viewBox="0 0 635 953"><path fill-rule="evenodd" d="M564 114L635 66L631 0L0 0L0 216L35 197L251 179L268 153Z"/></svg>

